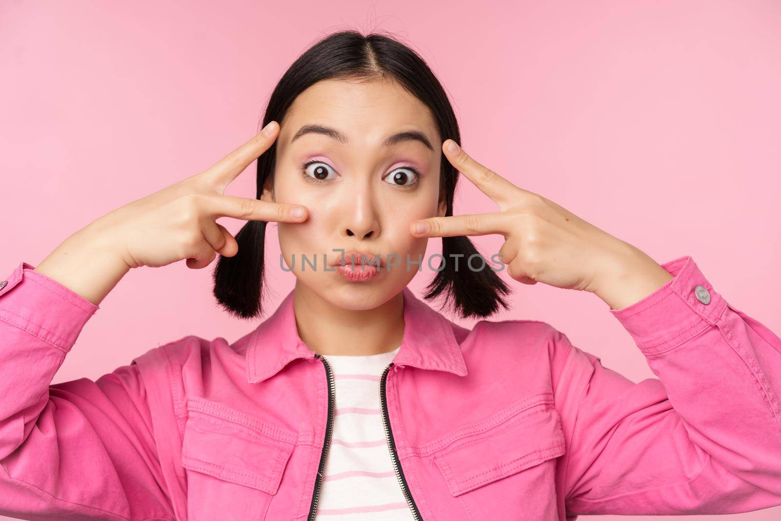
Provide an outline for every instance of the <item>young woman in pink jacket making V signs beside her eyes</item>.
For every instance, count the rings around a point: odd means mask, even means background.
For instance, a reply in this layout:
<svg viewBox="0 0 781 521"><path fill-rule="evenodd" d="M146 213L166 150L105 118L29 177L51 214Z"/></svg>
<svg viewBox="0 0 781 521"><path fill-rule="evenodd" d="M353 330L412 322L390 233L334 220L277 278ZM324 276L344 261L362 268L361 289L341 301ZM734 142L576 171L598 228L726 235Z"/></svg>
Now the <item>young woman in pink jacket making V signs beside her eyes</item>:
<svg viewBox="0 0 781 521"><path fill-rule="evenodd" d="M660 266L472 159L410 48L326 37L264 122L0 283L0 514L563 520L781 505L781 339L690 256ZM257 198L224 195L255 159ZM453 215L459 171L497 212ZM220 216L247 223L234 238ZM255 330L51 384L132 268L219 254L220 304L261 316L269 222L296 283ZM481 234L505 237L495 257L469 241ZM428 237L442 237L433 262ZM507 307L505 268L597 295L658 379L634 384L547 323L485 319ZM483 319L469 330L417 298L418 271L436 271L426 299Z"/></svg>

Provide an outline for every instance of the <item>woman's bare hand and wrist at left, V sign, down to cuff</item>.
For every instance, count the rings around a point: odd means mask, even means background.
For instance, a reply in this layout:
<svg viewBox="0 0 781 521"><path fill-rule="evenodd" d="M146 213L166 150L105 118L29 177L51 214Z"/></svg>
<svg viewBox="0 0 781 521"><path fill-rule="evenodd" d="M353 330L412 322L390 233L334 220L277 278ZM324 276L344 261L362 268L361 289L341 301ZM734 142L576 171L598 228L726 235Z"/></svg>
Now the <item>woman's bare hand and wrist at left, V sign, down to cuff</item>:
<svg viewBox="0 0 781 521"><path fill-rule="evenodd" d="M301 223L301 205L225 195L225 187L269 149L280 126L272 121L209 170L178 181L105 214L65 241L34 270L99 305L131 268L166 266L187 259L187 267L205 268L216 255L232 257L236 239L218 217ZM304 209L300 217L294 208Z"/></svg>

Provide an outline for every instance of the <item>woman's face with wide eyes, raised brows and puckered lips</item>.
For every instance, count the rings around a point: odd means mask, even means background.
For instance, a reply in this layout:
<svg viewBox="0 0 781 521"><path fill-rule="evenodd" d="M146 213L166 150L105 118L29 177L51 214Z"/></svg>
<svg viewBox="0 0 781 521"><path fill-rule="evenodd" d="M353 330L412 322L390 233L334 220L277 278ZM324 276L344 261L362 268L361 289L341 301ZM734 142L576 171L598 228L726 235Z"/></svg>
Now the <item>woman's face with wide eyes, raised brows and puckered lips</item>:
<svg viewBox="0 0 781 521"><path fill-rule="evenodd" d="M324 80L301 93L280 123L273 190L261 199L309 210L304 223L277 223L298 284L343 309L373 309L419 269L428 271L427 239L413 237L410 223L444 216L446 207L442 138L426 105L390 80ZM409 134L386 142L398 133ZM380 255L383 266L369 280L350 280L335 266L341 250Z"/></svg>

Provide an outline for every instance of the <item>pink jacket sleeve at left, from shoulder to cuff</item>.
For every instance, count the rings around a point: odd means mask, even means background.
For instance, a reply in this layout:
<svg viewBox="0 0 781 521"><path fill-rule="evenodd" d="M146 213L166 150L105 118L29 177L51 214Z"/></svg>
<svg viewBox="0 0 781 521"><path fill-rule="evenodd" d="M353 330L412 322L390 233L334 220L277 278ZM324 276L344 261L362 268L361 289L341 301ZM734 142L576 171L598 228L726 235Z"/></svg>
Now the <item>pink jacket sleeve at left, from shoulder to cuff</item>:
<svg viewBox="0 0 781 521"><path fill-rule="evenodd" d="M0 515L173 519L138 366L52 385L99 306L33 268L0 280Z"/></svg>

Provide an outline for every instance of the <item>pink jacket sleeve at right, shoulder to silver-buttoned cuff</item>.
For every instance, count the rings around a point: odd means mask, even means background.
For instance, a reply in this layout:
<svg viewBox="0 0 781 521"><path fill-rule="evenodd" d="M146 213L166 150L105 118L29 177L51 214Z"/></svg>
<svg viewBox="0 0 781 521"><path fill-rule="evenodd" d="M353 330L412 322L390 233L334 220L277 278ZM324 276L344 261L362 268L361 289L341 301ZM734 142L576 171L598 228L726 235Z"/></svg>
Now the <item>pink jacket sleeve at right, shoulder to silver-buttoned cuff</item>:
<svg viewBox="0 0 781 521"><path fill-rule="evenodd" d="M781 505L781 339L729 305L690 256L624 309L658 379L634 384L569 343L555 390L568 515L749 512Z"/></svg>

